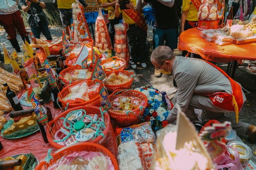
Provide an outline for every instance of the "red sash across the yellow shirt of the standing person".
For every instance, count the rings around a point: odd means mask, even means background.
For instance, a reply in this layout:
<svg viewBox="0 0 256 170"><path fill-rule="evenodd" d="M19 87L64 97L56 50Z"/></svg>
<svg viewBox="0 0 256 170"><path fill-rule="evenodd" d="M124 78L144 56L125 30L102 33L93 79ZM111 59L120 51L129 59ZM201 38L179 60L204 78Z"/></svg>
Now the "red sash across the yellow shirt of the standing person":
<svg viewBox="0 0 256 170"><path fill-rule="evenodd" d="M127 9L123 11L129 18L131 18L137 25L139 25L140 28L142 28L144 31L147 32L148 25L146 24L145 19L140 14L138 14L137 12L131 9Z"/></svg>

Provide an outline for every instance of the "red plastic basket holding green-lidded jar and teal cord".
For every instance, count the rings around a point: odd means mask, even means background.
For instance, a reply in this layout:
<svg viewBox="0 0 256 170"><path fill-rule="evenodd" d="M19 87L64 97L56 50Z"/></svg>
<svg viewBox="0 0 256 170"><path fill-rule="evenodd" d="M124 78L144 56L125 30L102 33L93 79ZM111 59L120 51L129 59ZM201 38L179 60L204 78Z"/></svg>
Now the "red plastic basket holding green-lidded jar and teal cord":
<svg viewBox="0 0 256 170"><path fill-rule="evenodd" d="M52 133L53 133L53 136L55 135L55 133L57 131L59 131L62 127L63 127L63 122L64 120L63 119L60 119L60 118L66 118L66 116L68 115L69 112L73 111L73 110L79 110L79 109L83 109L86 111L86 115L92 115L92 114L97 114L98 115L98 118L101 118L101 112L100 112L100 108L99 107L96 107L96 106L82 106L82 107L74 107L72 109L68 109L64 112L62 112L60 115L58 115L57 117L54 118L54 120L52 120L51 122L49 122L49 127L51 127L52 125L53 128L52 128ZM102 110L104 111L104 110ZM83 112L84 113L84 112ZM106 128L104 129L104 131L102 132L103 135L104 135L104 138L102 135L99 135L98 137L96 137L95 139L93 139L92 143L97 143L99 145L102 145L102 146L105 146L106 144L106 140L107 140L107 135L108 135L108 131L109 131L109 126L110 126L110 118L109 118L109 115L107 112L104 113L104 122L105 122L105 125L106 125ZM48 142L55 148L57 149L60 149L60 148L63 148L65 146L63 145L59 145L57 144L57 142L54 142L53 141L53 136L52 134L50 133L50 130L49 128L47 128L46 130L46 136L47 136L47 139L48 139Z"/></svg>

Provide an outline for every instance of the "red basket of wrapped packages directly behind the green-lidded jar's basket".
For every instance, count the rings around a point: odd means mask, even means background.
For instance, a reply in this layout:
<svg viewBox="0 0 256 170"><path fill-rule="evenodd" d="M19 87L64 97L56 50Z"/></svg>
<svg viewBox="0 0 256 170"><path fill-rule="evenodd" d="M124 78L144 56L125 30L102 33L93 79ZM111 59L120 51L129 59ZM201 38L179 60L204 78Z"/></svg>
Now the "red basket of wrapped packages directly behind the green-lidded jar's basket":
<svg viewBox="0 0 256 170"><path fill-rule="evenodd" d="M88 82L88 86L92 86L92 85L95 85L97 83L100 83L100 80L98 80L98 79L87 80L87 82ZM67 103L66 101L61 99L60 94L62 95L63 98L66 97L70 93L68 88L72 87L72 86L74 86L74 85L76 85L78 83L80 83L80 82L76 82L74 84L70 84L69 86L67 86L64 89L62 89L60 91L59 95L58 95L58 97L60 97L60 99L58 99L58 101L61 102L65 107L68 104L68 108L74 108L74 107L77 107L77 106L87 106L87 105L100 107L101 106L100 95L97 95L93 99L91 99L89 101L86 101L86 102L82 102L82 103ZM102 86L104 86L103 83L101 83L101 84L102 84Z"/></svg>

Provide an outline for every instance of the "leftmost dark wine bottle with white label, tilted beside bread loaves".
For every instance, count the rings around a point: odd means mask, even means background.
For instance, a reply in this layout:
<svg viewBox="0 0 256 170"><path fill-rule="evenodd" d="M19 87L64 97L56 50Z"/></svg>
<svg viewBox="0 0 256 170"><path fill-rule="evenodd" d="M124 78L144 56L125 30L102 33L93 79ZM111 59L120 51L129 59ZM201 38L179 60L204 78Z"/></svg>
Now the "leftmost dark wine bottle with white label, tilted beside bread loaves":
<svg viewBox="0 0 256 170"><path fill-rule="evenodd" d="M22 108L22 106L21 106L21 104L20 104L20 101L19 101L18 97L16 96L15 92L12 91L12 90L9 88L9 86L8 86L7 83L4 83L3 85L4 85L4 87L7 87L5 96L6 96L6 98L8 99L9 103L11 104L12 109L13 109L14 111L23 110L23 108Z"/></svg>

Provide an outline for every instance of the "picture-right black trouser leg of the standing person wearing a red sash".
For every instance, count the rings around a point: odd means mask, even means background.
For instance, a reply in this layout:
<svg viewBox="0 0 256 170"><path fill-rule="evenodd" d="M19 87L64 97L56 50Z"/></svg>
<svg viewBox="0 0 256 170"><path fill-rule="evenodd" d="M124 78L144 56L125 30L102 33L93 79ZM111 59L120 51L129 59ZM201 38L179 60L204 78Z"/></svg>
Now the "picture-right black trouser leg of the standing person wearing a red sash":
<svg viewBox="0 0 256 170"><path fill-rule="evenodd" d="M146 62L146 39L147 39L147 32L144 31L142 28L140 28L139 25L136 28L136 37L138 39L138 45L139 45L138 61L140 62L140 64L142 64L142 63ZM142 66L142 67L145 67L145 66Z"/></svg>

